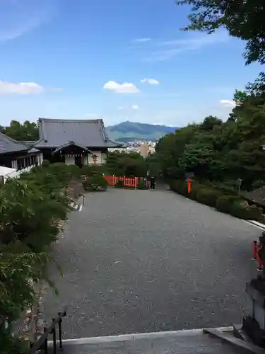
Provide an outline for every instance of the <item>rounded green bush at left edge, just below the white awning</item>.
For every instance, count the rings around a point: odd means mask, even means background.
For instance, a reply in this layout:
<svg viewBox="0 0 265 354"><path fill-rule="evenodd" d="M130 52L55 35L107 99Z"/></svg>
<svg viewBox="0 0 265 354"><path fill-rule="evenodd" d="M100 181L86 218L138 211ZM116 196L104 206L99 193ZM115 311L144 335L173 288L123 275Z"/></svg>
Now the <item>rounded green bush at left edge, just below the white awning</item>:
<svg viewBox="0 0 265 354"><path fill-rule="evenodd" d="M17 239L35 252L42 251L59 232L54 220L66 218L61 200L59 196L52 199L33 183L11 181L0 191L0 240L7 244Z"/></svg>

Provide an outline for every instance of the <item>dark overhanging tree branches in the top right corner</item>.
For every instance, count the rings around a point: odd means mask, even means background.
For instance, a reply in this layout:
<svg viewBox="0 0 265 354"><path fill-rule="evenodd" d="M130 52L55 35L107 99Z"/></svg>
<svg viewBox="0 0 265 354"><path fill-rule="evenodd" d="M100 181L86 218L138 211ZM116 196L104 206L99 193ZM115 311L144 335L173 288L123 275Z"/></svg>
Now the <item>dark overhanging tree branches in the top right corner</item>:
<svg viewBox="0 0 265 354"><path fill-rule="evenodd" d="M184 30L213 33L225 28L233 37L247 42L246 63L265 63L265 6L262 0L178 0L191 5L189 25Z"/></svg>

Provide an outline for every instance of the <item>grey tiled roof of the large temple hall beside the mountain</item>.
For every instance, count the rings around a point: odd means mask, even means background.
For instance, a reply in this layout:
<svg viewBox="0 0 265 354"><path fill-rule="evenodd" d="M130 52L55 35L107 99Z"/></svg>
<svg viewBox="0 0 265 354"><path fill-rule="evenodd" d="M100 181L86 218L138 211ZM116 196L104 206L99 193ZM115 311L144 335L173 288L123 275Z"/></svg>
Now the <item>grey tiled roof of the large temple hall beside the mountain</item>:
<svg viewBox="0 0 265 354"><path fill-rule="evenodd" d="M107 137L101 119L60 120L39 118L38 126L40 140L35 144L37 148L57 148L69 141L88 148L119 147L119 143L112 142Z"/></svg>

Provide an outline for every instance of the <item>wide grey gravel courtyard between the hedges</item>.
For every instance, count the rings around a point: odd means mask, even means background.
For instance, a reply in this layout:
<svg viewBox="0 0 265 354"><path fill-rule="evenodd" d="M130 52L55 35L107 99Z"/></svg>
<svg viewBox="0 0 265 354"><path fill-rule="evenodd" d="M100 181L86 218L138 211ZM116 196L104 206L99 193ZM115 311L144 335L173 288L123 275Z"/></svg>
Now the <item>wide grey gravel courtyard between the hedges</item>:
<svg viewBox="0 0 265 354"><path fill-rule="evenodd" d="M54 245L64 338L226 326L246 309L261 230L167 190L90 193Z"/></svg>

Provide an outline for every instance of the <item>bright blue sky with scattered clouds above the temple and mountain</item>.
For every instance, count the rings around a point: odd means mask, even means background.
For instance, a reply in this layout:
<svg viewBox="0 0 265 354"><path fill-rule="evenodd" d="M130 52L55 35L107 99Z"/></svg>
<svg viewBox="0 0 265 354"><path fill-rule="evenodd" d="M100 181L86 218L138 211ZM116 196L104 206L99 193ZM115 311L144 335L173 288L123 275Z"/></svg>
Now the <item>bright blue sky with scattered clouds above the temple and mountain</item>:
<svg viewBox="0 0 265 354"><path fill-rule="evenodd" d="M0 0L1 125L103 118L184 126L225 119L254 81L245 43L184 33L174 0Z"/></svg>

